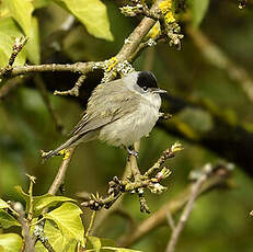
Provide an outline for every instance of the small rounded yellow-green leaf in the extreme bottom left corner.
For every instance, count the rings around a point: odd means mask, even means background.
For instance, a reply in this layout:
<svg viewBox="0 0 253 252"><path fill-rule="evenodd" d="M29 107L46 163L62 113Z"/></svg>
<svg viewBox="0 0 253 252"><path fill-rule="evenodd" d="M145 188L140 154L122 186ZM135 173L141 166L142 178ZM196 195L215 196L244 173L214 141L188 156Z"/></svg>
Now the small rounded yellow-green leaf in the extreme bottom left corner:
<svg viewBox="0 0 253 252"><path fill-rule="evenodd" d="M0 234L0 247L4 252L16 252L21 250L22 239L16 233Z"/></svg>

